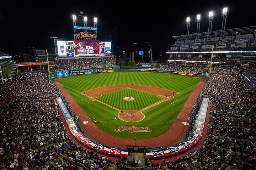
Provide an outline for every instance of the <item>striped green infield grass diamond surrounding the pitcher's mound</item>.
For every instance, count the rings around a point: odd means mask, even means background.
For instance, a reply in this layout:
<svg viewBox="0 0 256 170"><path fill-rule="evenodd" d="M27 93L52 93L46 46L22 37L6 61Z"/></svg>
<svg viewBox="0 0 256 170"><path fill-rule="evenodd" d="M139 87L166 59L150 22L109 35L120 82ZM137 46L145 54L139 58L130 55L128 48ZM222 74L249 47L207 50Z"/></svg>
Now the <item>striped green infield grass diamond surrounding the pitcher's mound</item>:
<svg viewBox="0 0 256 170"><path fill-rule="evenodd" d="M134 100L127 101L124 97L133 97ZM123 89L116 92L112 92L101 97L96 98L97 100L106 103L119 110L137 110L140 111L156 102L162 100L162 98L156 95L148 94L145 92Z"/></svg>

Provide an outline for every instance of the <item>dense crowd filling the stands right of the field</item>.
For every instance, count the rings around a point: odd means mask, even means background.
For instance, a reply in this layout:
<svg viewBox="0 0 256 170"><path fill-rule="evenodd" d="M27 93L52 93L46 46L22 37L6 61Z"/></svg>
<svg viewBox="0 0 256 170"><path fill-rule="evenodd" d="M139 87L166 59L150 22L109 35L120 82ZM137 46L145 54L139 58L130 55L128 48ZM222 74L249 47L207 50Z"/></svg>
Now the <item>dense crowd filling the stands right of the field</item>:
<svg viewBox="0 0 256 170"><path fill-rule="evenodd" d="M165 164L170 169L256 169L256 90L239 73L215 74L202 96L210 98L208 137L199 150ZM186 163L186 164L184 164ZM192 166L190 166L192 165Z"/></svg>

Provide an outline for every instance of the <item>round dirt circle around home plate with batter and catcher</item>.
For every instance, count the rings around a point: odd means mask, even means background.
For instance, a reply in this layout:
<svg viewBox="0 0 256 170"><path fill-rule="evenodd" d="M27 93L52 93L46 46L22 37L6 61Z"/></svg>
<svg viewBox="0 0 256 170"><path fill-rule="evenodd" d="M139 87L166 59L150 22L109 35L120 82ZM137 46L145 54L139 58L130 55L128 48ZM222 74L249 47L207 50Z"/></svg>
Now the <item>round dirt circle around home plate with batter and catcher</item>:
<svg viewBox="0 0 256 170"><path fill-rule="evenodd" d="M133 114L133 117L130 117L131 113ZM118 118L127 122L138 122L142 121L145 118L145 115L136 110L124 110L123 114L121 112L118 113Z"/></svg>

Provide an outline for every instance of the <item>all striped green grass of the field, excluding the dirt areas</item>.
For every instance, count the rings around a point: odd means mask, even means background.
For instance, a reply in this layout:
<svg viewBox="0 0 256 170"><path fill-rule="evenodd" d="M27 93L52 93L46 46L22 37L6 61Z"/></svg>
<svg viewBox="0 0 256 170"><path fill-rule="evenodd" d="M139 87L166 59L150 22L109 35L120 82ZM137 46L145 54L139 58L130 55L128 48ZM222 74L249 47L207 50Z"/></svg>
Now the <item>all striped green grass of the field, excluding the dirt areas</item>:
<svg viewBox="0 0 256 170"><path fill-rule="evenodd" d="M121 74L122 73L122 74ZM74 100L79 104L79 106L84 110L88 117L92 120L96 117L97 123L95 124L101 131L119 138L126 139L146 139L153 138L164 134L170 129L173 121L176 119L177 115L180 113L181 109L185 105L186 101L190 97L194 88L201 81L201 78L192 78L175 74L165 74L165 73L140 73L140 72L113 72L113 73L102 73L102 74L90 74L90 75L79 75L71 76L62 79L56 79L61 83L64 88L69 92L69 94L74 98ZM113 85L145 85L160 87L166 89L166 91L175 91L178 95L175 96L174 100L168 100L162 102L154 107L151 107L143 111L145 119L137 123L129 123L122 120L114 120L114 116L119 113L119 111L110 108L104 104L97 101L91 101L88 97L85 97L81 93L90 89L95 89L97 87L111 86ZM105 102L115 108L128 108L134 110L141 110L144 106L151 105L151 102L146 102L145 98L142 97L145 94L140 92L138 94L136 90L129 89L131 91L120 90L113 92L111 94L104 94L101 97L101 101ZM135 92L136 91L136 92ZM126 105L119 98L123 96L121 94L134 93L141 97L140 100L133 102L134 106ZM130 96L130 95L128 95ZM81 101L83 97L83 101ZM159 101L160 98L155 95L149 95L154 101ZM112 98L113 100L110 100ZM140 102L139 102L140 101ZM155 102L155 103L156 103ZM132 104L130 102L130 104ZM144 107L144 108L145 108ZM190 114L190 113L188 113ZM88 118L88 119L89 119ZM149 127L151 132L133 132L128 131L116 132L120 126L140 126Z"/></svg>

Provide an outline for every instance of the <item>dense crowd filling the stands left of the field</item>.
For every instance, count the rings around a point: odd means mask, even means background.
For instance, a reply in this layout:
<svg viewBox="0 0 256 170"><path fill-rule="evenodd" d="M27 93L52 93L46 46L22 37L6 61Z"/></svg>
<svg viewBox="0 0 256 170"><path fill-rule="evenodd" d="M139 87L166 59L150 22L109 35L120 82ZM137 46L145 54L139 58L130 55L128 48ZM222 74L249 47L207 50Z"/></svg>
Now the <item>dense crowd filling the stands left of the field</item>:
<svg viewBox="0 0 256 170"><path fill-rule="evenodd" d="M47 75L15 73L12 80L1 83L0 169L108 170L110 160L67 135L55 102L62 95Z"/></svg>

